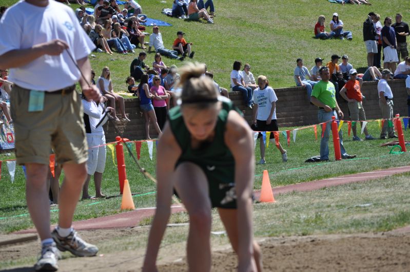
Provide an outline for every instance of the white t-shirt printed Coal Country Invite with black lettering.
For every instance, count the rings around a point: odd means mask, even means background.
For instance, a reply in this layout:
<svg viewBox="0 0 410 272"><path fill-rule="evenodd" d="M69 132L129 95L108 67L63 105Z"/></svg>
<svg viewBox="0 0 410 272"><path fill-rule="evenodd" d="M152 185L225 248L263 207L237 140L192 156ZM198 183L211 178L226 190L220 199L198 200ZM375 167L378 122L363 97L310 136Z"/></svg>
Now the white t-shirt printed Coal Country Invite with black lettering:
<svg viewBox="0 0 410 272"><path fill-rule="evenodd" d="M256 119L267 120L272 109L272 102L278 101L278 97L275 94L274 89L266 86L261 90L259 87L253 91L253 103L258 104L258 113ZM272 114L272 120L276 119L276 108L274 114Z"/></svg>

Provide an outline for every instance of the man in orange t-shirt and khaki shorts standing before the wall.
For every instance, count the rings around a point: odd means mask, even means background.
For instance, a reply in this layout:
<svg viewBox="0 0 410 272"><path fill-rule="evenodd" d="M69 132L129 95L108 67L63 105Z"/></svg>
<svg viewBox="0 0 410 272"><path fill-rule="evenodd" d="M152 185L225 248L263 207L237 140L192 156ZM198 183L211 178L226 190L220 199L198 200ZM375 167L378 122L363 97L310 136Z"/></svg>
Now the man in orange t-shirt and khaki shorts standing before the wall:
<svg viewBox="0 0 410 272"><path fill-rule="evenodd" d="M340 90L340 95L347 101L347 106L349 107L349 111L350 111L350 120L360 121L360 125L363 126L363 121L366 121L366 115L364 114L364 108L363 108L363 103L362 103L363 95L362 95L362 92L360 91L360 88L362 87L362 82L359 82L359 80L356 80L357 78L356 69L350 69L349 74L350 74L350 79L347 80L342 90ZM356 133L356 122L352 123L352 131L353 131L353 140L361 141L361 139L357 136L357 133ZM365 138L366 140L375 139L372 135L368 133L366 127L364 127L363 132L366 135L366 138Z"/></svg>

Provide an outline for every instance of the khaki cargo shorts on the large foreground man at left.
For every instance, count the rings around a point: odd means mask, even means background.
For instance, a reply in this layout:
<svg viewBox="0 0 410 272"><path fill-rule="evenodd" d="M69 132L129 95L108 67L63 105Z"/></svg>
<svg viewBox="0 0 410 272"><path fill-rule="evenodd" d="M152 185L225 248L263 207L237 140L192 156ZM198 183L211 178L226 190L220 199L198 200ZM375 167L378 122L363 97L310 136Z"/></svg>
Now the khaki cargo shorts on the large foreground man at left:
<svg viewBox="0 0 410 272"><path fill-rule="evenodd" d="M10 106L17 163L48 165L51 148L58 164L86 162L83 105L77 92L46 92L41 112L28 112L29 97L30 90L13 87Z"/></svg>

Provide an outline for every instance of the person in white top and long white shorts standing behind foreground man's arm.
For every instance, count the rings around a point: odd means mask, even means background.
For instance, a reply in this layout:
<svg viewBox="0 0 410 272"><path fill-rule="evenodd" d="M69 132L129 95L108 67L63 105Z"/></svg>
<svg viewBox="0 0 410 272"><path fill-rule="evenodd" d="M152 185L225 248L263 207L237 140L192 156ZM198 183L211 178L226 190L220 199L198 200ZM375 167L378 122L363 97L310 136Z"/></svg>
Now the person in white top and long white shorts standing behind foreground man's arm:
<svg viewBox="0 0 410 272"><path fill-rule="evenodd" d="M107 98L105 98L105 100L107 100ZM83 185L82 199L102 198L105 197L101 191L101 183L103 181L105 158L107 154L103 124L108 120L105 111L110 112L114 109L107 107L104 111L103 103L97 104L95 101L87 99L84 95L82 95L82 102L85 132L88 143L87 178ZM99 127L96 127L103 118L104 120ZM95 197L91 197L88 194L88 184L90 183L92 175L94 175Z"/></svg>

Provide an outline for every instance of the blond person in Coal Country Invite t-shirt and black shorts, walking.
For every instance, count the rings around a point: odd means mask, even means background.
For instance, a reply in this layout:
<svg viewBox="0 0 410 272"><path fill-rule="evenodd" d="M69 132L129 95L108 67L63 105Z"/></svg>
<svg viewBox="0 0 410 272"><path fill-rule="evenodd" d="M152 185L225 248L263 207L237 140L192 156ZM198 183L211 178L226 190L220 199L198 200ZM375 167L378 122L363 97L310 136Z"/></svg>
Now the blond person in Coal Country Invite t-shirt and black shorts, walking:
<svg viewBox="0 0 410 272"><path fill-rule="evenodd" d="M252 114L252 129L259 132L271 132L269 139L271 141L275 138L274 131L279 131L278 121L276 120L276 101L278 97L275 94L274 89L268 86L268 80L266 76L258 76L258 86L253 91L253 114ZM258 134L258 138L263 137L262 133ZM282 145L278 143L276 147L282 154L282 161L287 161L286 150L282 148ZM261 160L260 164L266 163L265 161L265 143L263 139L260 139L261 148Z"/></svg>

